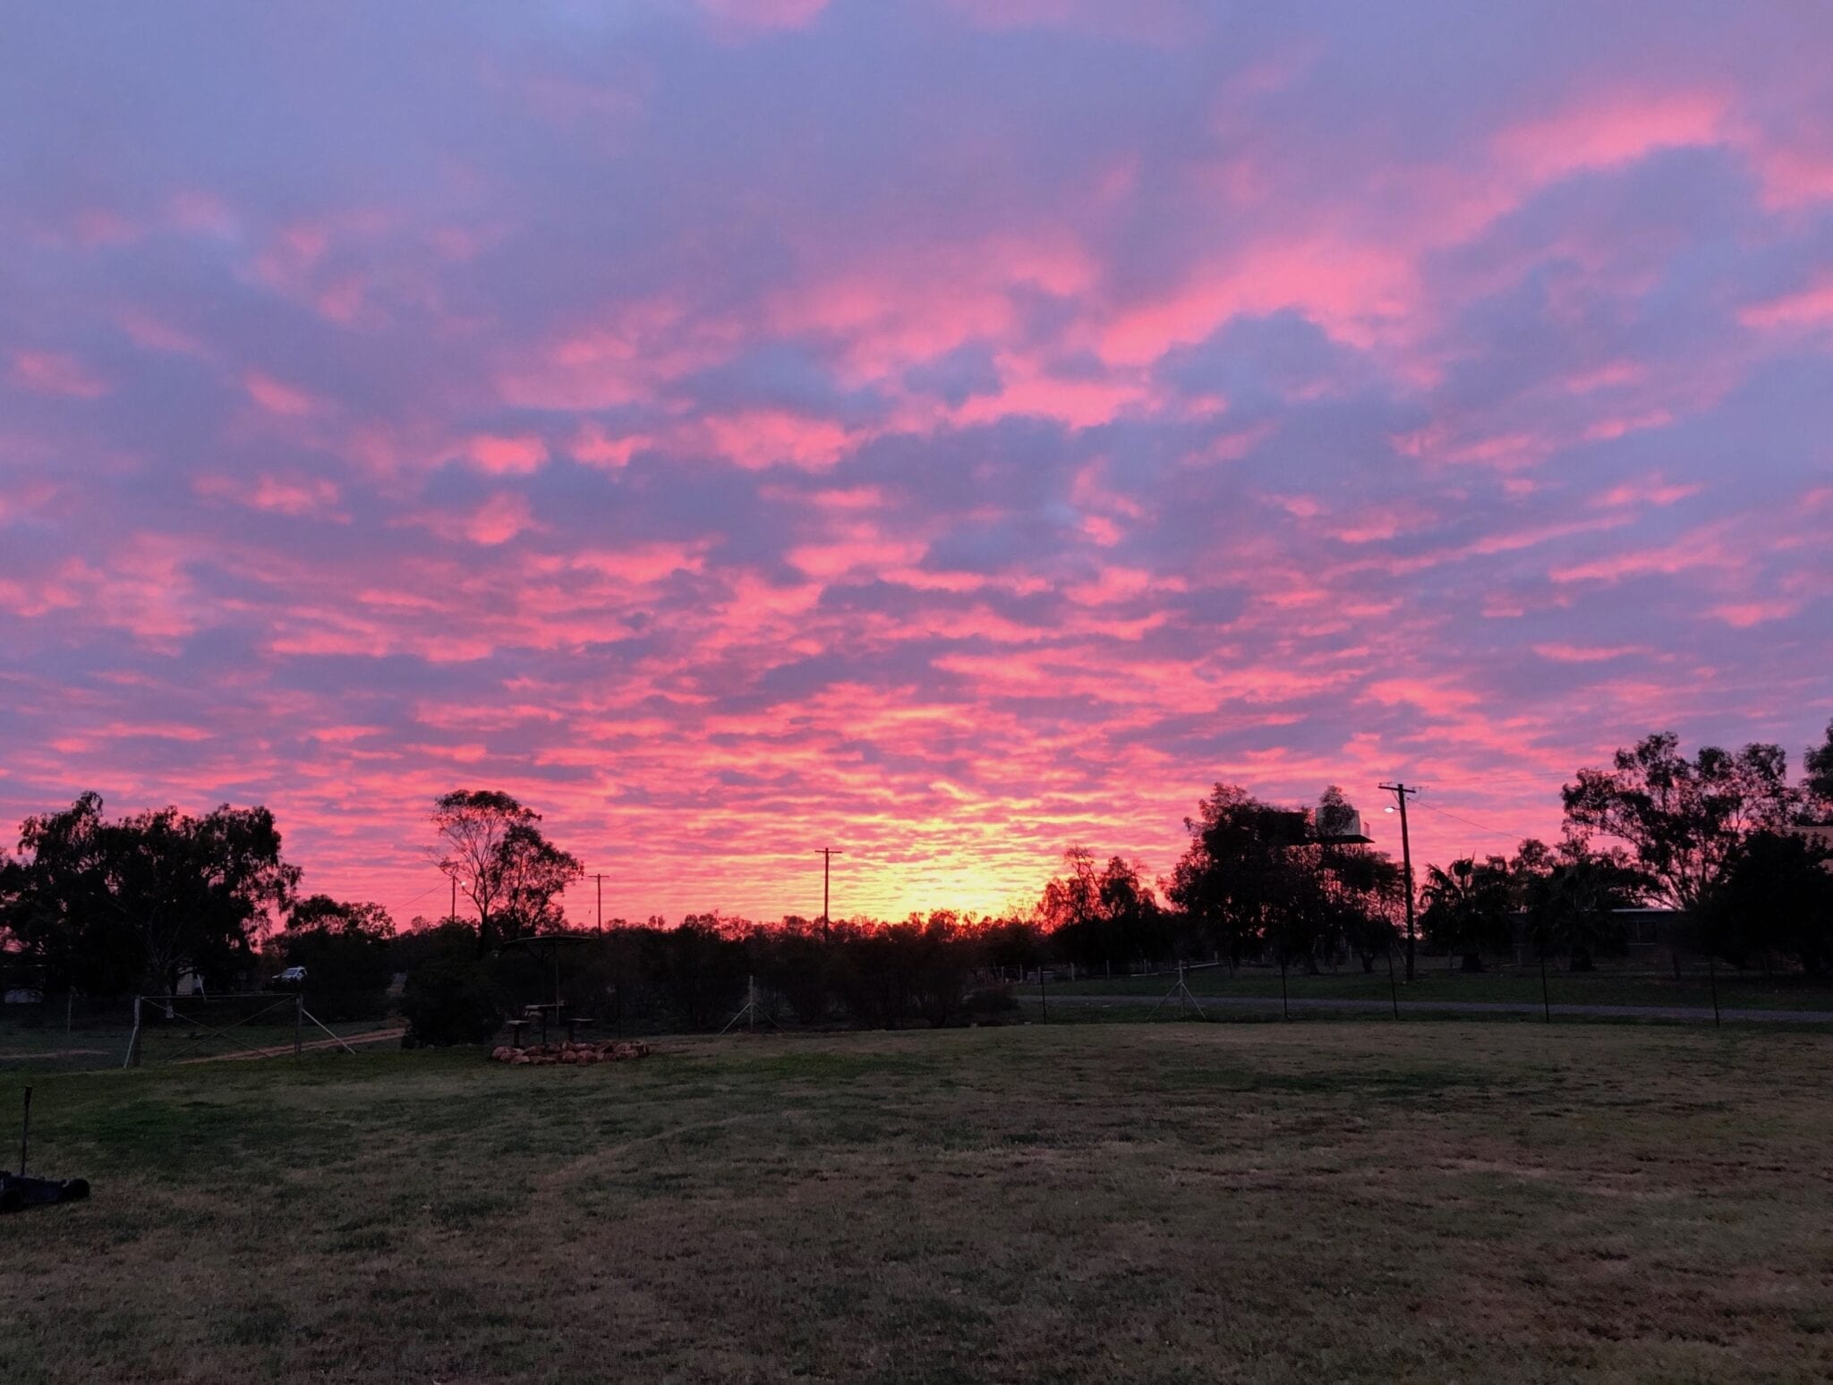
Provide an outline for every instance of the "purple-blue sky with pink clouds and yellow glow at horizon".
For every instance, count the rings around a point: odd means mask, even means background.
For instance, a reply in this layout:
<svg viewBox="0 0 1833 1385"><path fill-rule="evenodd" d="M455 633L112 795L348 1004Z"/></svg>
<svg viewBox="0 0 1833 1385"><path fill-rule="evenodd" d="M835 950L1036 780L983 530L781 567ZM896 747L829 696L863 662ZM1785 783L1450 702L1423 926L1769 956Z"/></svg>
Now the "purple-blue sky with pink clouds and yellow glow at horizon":
<svg viewBox="0 0 1833 1385"><path fill-rule="evenodd" d="M607 918L900 916L1833 718L1833 7L0 20L7 824L405 922L500 788Z"/></svg>

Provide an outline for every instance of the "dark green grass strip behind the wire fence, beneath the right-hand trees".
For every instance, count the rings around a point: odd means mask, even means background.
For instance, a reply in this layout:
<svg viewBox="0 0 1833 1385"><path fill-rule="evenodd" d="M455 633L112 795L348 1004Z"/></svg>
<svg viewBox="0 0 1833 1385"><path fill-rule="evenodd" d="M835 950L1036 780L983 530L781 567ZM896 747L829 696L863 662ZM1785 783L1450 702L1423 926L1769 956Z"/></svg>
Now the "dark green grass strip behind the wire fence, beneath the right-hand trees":
<svg viewBox="0 0 1833 1385"><path fill-rule="evenodd" d="M1399 964L1397 964L1399 965ZM1091 976L1074 982L1050 982L1050 995L1138 995L1157 998L1175 982L1175 976ZM1279 998L1279 973L1270 967L1243 967L1234 976L1226 967L1204 967L1188 973L1191 993L1204 997ZM1389 982L1384 962L1373 975L1356 971L1327 971L1307 976L1292 971L1287 976L1290 995L1316 998L1388 1000ZM1036 995L1036 984L1026 993ZM1498 967L1479 975L1448 971L1441 958L1415 969L1415 980L1399 982L1402 1000L1452 1002L1516 1002L1540 1004L1540 971L1534 967ZM1712 1006L1712 982L1705 975L1686 975L1675 980L1661 971L1600 969L1593 973L1551 971L1547 991L1556 1006ZM1718 978L1719 1004L1725 1009L1826 1009L1833 1011L1833 986L1824 978L1800 975L1763 976L1762 973L1725 971Z"/></svg>

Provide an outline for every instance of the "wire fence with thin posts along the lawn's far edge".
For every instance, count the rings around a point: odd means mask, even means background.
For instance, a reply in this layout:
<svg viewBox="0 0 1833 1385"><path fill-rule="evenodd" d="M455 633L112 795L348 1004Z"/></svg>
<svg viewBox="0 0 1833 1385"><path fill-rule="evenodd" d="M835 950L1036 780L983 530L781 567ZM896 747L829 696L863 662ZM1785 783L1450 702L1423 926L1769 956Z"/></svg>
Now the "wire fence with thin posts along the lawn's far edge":
<svg viewBox="0 0 1833 1385"><path fill-rule="evenodd" d="M1391 969L1389 969L1391 967ZM1705 1026L1833 1028L1833 978L1780 967L1725 967L1692 958L1679 967L1650 958L1617 958L1595 969L1564 960L1498 956L1483 971L1461 958L1340 958L1336 965L1279 967L1221 960L1080 967L990 967L964 976L959 993L882 1009L873 1017L845 1004L797 1009L790 986L739 976L730 1004L686 1015L664 997L612 987L566 1019L590 1033L832 1031L849 1028L929 1028L962 1024L1063 1024L1155 1020L1538 1020L1659 1022ZM341 1050L350 1042L400 1039L398 1015L319 1024L312 998L288 993L246 997L143 998L136 1028L132 997L49 995L0 1006L0 1072L119 1068L214 1057L288 1057ZM521 1011L517 1011L521 1015ZM506 1026L502 1037L515 1037ZM533 1035L533 1028L528 1030ZM379 1039L378 1039L379 1037Z"/></svg>

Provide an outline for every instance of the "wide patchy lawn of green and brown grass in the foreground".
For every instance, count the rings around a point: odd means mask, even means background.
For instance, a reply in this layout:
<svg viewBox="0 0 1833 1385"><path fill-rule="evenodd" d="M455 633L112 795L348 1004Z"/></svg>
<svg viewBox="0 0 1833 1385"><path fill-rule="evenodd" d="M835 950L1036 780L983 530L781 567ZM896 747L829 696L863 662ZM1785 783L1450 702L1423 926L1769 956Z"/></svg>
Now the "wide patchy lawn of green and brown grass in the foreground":
<svg viewBox="0 0 1833 1385"><path fill-rule="evenodd" d="M33 1163L95 1198L0 1224L0 1374L1826 1380L1829 1053L1158 1024L48 1075Z"/></svg>

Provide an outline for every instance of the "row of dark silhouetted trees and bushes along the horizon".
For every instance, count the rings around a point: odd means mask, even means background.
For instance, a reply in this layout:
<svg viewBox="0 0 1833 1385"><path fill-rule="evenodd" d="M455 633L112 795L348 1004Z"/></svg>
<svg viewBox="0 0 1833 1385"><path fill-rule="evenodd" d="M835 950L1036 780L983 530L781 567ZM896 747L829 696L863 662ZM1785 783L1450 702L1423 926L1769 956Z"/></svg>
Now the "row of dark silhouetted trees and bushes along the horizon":
<svg viewBox="0 0 1833 1385"><path fill-rule="evenodd" d="M1606 768L1580 769L1562 801L1564 835L1551 846L1529 839L1510 856L1424 868L1413 901L1426 949L1481 969L1487 954L1525 945L1582 971L1622 947L1617 911L1663 905L1685 920L1675 942L1697 953L1817 975L1833 965L1829 852L1800 830L1833 819L1833 725L1800 782L1778 746L1686 757L1672 733L1657 733ZM1217 784L1157 881L1120 856L1072 846L1017 918L614 920L607 938L563 962L559 984L576 1008L629 1006L632 1020L667 1013L704 1026L757 976L805 1022L902 1024L997 1006L999 976L1045 964L1316 971L1353 958L1373 969L1404 942L1408 881L1386 854L1345 835L1353 821L1334 786L1294 810ZM440 797L427 828L431 863L462 903L398 931L378 905L301 894L266 808L108 819L84 793L27 817L16 850L0 857L0 949L11 973L44 991L93 997L169 993L183 973L229 989L302 965L315 1004L350 1013L379 1006L389 976L407 971L403 1006L425 1013L429 1033L440 1028L434 1011L493 1024L554 989L554 949L530 940L577 932L561 896L583 868L548 839L539 812L495 790Z"/></svg>

